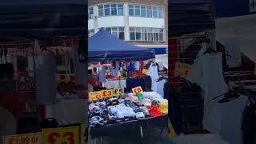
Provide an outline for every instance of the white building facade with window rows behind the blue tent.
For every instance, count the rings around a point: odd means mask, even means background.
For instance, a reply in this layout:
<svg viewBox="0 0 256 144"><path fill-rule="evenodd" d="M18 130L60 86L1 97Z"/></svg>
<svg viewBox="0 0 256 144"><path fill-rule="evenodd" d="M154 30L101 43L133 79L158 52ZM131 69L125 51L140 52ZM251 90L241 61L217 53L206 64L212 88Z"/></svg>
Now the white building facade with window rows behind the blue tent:
<svg viewBox="0 0 256 144"><path fill-rule="evenodd" d="M126 42L154 48L168 47L167 0L89 0L88 36L103 28Z"/></svg>

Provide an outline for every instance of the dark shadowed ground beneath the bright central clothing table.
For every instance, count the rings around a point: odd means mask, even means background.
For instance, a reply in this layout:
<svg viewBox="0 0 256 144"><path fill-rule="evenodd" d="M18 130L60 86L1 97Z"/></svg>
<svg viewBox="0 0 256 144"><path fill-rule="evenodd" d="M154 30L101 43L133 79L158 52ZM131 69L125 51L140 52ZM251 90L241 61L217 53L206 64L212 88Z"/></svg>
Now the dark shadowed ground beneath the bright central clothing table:
<svg viewBox="0 0 256 144"><path fill-rule="evenodd" d="M167 144L167 129L148 129L143 130L144 137L141 137L139 131L130 131L126 134L118 134L102 138L103 144ZM95 140L89 139L89 144L100 144L100 141L95 143Z"/></svg>

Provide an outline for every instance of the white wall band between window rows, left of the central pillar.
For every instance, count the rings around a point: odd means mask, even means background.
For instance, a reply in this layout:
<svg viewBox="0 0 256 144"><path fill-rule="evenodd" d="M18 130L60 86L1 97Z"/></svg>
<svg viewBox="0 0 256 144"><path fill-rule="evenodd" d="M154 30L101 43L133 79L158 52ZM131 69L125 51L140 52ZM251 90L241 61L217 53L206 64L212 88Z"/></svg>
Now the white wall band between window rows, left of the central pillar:
<svg viewBox="0 0 256 144"><path fill-rule="evenodd" d="M113 27L113 26L125 26L123 16L109 16L98 18L98 28L100 27Z"/></svg>

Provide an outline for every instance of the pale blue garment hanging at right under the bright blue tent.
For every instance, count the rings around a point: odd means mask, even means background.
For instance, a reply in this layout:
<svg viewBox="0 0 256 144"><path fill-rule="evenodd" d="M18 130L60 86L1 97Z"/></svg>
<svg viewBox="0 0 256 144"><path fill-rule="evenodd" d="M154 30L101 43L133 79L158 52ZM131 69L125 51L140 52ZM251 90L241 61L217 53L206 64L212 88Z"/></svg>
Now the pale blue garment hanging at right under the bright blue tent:
<svg viewBox="0 0 256 144"><path fill-rule="evenodd" d="M149 70L147 71L147 75L149 75L151 78L151 82L152 82L151 90L157 91L158 90L157 80L159 78L158 66L150 66Z"/></svg>

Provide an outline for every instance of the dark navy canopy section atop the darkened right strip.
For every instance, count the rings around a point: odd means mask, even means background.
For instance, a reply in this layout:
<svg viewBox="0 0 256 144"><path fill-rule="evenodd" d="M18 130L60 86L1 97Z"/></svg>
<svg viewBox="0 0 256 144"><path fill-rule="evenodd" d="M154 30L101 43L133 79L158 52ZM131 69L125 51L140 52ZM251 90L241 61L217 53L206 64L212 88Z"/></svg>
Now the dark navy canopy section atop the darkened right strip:
<svg viewBox="0 0 256 144"><path fill-rule="evenodd" d="M169 36L214 30L214 0L169 1Z"/></svg>

